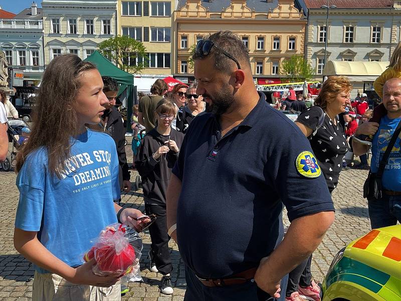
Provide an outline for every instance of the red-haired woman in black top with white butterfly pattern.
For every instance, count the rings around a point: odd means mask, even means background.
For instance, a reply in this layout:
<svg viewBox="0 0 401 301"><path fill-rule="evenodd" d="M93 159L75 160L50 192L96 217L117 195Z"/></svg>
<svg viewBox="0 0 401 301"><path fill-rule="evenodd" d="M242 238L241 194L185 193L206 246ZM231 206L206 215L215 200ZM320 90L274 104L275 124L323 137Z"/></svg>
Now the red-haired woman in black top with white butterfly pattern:
<svg viewBox="0 0 401 301"><path fill-rule="evenodd" d="M345 76L331 76L322 85L315 105L303 111L295 124L309 138L317 164L330 194L338 184L342 158L347 152L347 140L338 119L350 105L352 85ZM286 301L302 301L300 295L320 301L320 288L310 272L312 255L289 273Z"/></svg>

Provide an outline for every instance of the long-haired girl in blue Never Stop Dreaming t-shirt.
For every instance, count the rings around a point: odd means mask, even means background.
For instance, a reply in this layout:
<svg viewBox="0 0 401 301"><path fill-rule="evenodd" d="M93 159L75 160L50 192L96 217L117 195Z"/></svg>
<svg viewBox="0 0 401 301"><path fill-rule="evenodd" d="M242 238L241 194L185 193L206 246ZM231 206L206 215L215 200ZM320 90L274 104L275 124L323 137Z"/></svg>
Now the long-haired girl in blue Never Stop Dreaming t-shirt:
<svg viewBox="0 0 401 301"><path fill-rule="evenodd" d="M43 75L31 137L18 154L14 245L34 263L33 300L120 299L119 275L98 276L82 255L119 221L141 230L142 213L124 209L113 139L97 124L108 100L99 71L78 56L54 58ZM117 284L116 284L117 283ZM91 298L92 297L92 298Z"/></svg>

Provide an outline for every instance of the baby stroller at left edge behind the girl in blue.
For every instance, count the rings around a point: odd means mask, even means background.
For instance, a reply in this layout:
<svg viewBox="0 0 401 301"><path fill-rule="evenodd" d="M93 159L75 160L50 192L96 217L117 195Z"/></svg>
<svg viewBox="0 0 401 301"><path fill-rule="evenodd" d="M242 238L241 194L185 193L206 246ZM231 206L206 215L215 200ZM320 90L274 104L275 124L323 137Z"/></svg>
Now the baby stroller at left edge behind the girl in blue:
<svg viewBox="0 0 401 301"><path fill-rule="evenodd" d="M6 160L0 165L4 172L10 171L11 167L15 166L17 152L18 149L21 147L21 144L19 143L20 135L22 135L24 127L30 128L29 125L22 119L9 118L9 122L7 123L7 134L9 136L9 152Z"/></svg>

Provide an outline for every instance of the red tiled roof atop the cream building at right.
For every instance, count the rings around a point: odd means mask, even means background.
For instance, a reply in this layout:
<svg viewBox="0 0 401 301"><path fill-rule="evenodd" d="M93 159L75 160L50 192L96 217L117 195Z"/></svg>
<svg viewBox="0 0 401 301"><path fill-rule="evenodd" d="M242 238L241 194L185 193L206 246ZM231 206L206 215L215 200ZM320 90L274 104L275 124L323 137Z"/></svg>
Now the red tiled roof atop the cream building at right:
<svg viewBox="0 0 401 301"><path fill-rule="evenodd" d="M327 0L304 0L308 9L320 9L327 5ZM339 9L390 9L393 0L330 0L330 5Z"/></svg>

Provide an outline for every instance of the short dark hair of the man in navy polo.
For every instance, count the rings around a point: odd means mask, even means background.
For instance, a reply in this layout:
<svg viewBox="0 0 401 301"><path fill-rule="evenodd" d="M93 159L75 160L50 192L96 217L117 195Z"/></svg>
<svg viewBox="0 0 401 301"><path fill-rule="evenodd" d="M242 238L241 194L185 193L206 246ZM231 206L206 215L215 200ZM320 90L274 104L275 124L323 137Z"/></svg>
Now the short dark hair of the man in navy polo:
<svg viewBox="0 0 401 301"><path fill-rule="evenodd" d="M243 69L245 66L251 68L248 48L245 47L238 35L232 33L231 31L220 31L204 37L204 40L212 41L217 47L223 49L232 57L236 58L241 65L241 69ZM236 63L224 55L221 51L216 49L216 47L212 48L209 55L213 56L214 58L215 69L229 74L233 71L232 66L235 66ZM192 59L202 59L202 56L195 52L192 56Z"/></svg>

